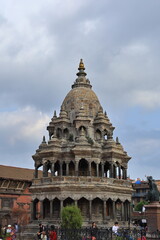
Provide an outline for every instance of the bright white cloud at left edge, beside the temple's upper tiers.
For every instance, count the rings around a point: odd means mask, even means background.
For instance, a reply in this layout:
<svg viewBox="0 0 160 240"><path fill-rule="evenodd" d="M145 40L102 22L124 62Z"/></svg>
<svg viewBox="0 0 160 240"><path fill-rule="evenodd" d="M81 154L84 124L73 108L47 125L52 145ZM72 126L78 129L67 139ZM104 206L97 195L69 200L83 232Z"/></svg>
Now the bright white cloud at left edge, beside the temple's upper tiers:
<svg viewBox="0 0 160 240"><path fill-rule="evenodd" d="M11 112L0 112L1 141L6 139L11 145L16 145L17 141L21 140L23 142L26 140L26 143L29 140L40 141L49 120L46 114L31 107Z"/></svg>

